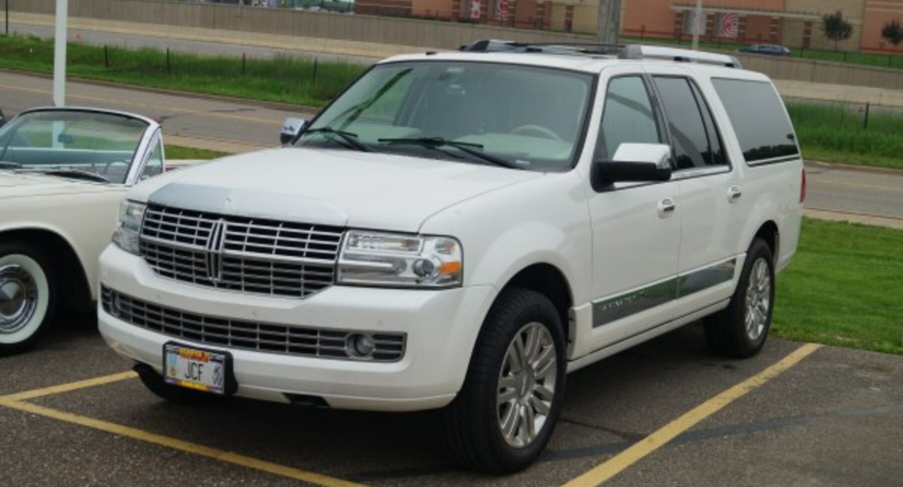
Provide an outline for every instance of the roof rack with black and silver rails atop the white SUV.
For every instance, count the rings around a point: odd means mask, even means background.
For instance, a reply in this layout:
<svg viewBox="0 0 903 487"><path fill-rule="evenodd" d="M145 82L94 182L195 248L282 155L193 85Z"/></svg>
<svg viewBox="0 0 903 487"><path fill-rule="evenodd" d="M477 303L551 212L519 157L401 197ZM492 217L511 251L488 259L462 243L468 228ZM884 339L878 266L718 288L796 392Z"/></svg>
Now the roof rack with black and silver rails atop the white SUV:
<svg viewBox="0 0 903 487"><path fill-rule="evenodd" d="M470 45L461 46L459 51L467 52L542 52L546 54L566 54L572 56L593 56L621 60L674 60L676 62L696 62L743 69L740 60L727 54L691 51L661 46L639 44L606 44L595 42L517 42L484 39Z"/></svg>

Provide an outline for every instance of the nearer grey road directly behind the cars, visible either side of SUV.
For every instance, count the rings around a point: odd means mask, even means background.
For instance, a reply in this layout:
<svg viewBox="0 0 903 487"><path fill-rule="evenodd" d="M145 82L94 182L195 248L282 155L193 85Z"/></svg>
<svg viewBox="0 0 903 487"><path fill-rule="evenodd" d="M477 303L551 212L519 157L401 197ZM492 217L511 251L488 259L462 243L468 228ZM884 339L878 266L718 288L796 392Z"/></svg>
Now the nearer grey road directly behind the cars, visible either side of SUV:
<svg viewBox="0 0 903 487"><path fill-rule="evenodd" d="M310 109L263 106L203 96L169 95L127 87L70 82L73 106L98 106L163 121L166 142L223 152L275 146L286 117ZM51 79L0 71L0 108L14 115L51 104ZM813 216L903 228L903 171L872 172L810 165L806 206Z"/></svg>

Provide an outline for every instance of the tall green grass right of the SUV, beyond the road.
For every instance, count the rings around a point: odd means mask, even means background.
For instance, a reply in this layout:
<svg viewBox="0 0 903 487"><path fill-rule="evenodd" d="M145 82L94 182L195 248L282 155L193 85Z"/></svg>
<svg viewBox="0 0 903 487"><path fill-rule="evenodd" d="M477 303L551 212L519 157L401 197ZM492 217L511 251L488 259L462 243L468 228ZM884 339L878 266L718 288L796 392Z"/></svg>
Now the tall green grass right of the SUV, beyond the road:
<svg viewBox="0 0 903 487"><path fill-rule="evenodd" d="M903 109L870 110L868 128L864 106L788 101L787 111L805 159L903 169Z"/></svg>

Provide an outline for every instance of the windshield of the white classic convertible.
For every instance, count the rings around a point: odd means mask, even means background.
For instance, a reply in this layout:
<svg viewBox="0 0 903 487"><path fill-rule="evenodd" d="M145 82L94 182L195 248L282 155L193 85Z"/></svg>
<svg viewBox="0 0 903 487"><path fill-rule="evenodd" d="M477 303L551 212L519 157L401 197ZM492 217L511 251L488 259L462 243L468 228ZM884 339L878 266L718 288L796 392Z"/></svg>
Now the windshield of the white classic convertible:
<svg viewBox="0 0 903 487"><path fill-rule="evenodd" d="M22 170L89 172L121 184L147 127L135 118L96 112L24 114L0 129L0 164Z"/></svg>

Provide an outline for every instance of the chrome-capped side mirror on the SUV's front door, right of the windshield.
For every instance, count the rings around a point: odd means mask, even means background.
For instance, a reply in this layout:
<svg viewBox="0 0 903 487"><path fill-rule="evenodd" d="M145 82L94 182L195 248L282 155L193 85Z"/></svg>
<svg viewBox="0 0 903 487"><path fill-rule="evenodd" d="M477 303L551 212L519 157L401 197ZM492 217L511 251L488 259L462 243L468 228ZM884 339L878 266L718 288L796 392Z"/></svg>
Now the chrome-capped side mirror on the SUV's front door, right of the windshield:
<svg viewBox="0 0 903 487"><path fill-rule="evenodd" d="M594 161L592 188L601 191L616 182L671 179L671 147L664 143L622 143L611 161Z"/></svg>

